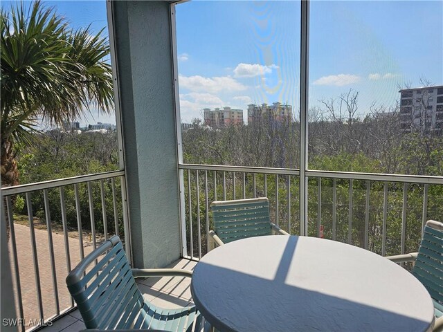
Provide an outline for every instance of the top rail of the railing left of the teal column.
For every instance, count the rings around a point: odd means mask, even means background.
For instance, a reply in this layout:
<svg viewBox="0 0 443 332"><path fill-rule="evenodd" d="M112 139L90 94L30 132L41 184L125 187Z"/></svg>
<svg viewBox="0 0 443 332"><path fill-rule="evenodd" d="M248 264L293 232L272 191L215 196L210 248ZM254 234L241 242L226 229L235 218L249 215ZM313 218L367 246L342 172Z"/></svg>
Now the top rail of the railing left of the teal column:
<svg viewBox="0 0 443 332"><path fill-rule="evenodd" d="M28 183L26 185L15 185L13 187L1 188L1 196L10 196L16 194L23 194L25 192L33 192L35 190L44 190L53 187L62 187L63 185L74 185L75 183L83 183L87 181L97 181L104 178L115 178L117 176L124 176L125 171L111 171L97 174L87 174L80 176L73 176L71 178L60 178L50 181L42 181L37 183Z"/></svg>

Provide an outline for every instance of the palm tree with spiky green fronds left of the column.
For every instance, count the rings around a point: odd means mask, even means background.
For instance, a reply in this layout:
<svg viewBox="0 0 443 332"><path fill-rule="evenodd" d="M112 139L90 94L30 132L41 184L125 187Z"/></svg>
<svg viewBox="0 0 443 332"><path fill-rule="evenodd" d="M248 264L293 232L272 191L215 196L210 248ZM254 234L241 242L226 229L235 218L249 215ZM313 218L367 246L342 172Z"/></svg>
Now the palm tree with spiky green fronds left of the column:
<svg viewBox="0 0 443 332"><path fill-rule="evenodd" d="M109 44L101 30L73 30L41 1L0 10L1 187L17 185L17 145L33 144L39 121L62 124L113 109ZM3 202L4 203L4 202Z"/></svg>

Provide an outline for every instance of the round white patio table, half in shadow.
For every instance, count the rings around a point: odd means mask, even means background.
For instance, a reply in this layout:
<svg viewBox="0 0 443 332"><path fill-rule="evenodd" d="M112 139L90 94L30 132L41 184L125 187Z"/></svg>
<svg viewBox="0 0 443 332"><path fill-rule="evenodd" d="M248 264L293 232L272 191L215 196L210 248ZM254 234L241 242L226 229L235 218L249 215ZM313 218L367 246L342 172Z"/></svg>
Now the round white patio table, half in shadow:
<svg viewBox="0 0 443 332"><path fill-rule="evenodd" d="M219 331L431 331L434 308L408 271L314 237L227 243L195 266L191 293Z"/></svg>

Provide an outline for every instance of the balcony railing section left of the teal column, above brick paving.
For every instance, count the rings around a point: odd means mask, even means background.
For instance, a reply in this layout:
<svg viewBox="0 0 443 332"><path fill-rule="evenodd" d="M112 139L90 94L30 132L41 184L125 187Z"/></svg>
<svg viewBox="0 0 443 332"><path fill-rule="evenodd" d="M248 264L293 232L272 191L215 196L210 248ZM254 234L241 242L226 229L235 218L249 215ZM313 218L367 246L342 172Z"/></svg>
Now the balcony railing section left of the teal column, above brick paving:
<svg viewBox="0 0 443 332"><path fill-rule="evenodd" d="M21 324L21 331L75 307L64 280L101 241L119 235L131 257L124 171L2 188L1 198L10 225L17 317L33 322ZM25 215L12 206L17 200Z"/></svg>

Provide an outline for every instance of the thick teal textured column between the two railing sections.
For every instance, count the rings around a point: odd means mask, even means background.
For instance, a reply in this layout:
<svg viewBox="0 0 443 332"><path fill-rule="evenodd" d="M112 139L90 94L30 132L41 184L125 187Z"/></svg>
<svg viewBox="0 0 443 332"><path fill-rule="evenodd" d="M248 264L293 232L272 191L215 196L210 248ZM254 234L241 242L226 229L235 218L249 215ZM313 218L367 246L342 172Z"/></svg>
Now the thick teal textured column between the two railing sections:
<svg viewBox="0 0 443 332"><path fill-rule="evenodd" d="M170 5L111 8L134 266L163 267L181 256Z"/></svg>

